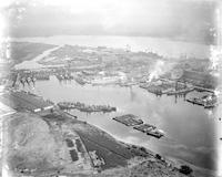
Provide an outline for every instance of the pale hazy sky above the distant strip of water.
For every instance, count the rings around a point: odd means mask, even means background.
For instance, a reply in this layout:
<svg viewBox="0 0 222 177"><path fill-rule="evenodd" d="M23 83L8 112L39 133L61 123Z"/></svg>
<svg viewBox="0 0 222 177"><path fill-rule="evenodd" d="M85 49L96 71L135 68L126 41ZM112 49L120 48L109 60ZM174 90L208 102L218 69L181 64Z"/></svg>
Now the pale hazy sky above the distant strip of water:
<svg viewBox="0 0 222 177"><path fill-rule="evenodd" d="M13 35L118 34L212 41L211 0L27 0L7 9Z"/></svg>

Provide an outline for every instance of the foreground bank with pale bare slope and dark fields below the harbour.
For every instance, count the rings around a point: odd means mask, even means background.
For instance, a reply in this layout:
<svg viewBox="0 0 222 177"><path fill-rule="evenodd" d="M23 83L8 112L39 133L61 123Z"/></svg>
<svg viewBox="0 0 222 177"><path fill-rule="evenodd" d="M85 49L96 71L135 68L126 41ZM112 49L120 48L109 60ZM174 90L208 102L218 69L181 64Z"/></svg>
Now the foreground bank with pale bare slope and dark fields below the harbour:
<svg viewBox="0 0 222 177"><path fill-rule="evenodd" d="M94 173L105 174L107 170L117 167L127 169L129 160L138 158L137 164L144 160L155 162L153 170L159 169L158 166L163 164L164 170L168 170L165 175L184 176L173 164L167 159L161 160L160 155L157 156L141 146L119 142L100 128L57 108L44 115L19 110L18 107L18 112L10 117L3 117L3 129L12 129L10 133L4 132L3 134L8 139L3 144L8 147L3 154L10 156L10 160L4 162L9 168L4 170L9 170L10 174L16 176L21 174L29 176L73 176L78 174L93 176ZM19 124L14 124L18 122ZM24 125L26 129L22 128ZM18 133L20 134L18 135ZM34 136L30 137L30 134ZM14 152L16 145L20 148ZM30 146L32 148L29 148ZM18 160L20 158L23 160Z"/></svg>

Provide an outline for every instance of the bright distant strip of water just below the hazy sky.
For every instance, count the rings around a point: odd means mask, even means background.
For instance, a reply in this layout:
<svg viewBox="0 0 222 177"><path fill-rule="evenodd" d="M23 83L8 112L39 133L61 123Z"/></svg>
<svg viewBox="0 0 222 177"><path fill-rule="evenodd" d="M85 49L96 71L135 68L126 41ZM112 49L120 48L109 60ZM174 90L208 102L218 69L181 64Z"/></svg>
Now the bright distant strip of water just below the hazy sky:
<svg viewBox="0 0 222 177"><path fill-rule="evenodd" d="M168 58L179 58L183 54L198 59L210 56L210 46L198 43L172 41L169 39L149 37L113 37L113 35L57 35L48 38L21 38L14 41L39 42L48 44L70 44L87 46L131 46L132 51L152 51Z"/></svg>

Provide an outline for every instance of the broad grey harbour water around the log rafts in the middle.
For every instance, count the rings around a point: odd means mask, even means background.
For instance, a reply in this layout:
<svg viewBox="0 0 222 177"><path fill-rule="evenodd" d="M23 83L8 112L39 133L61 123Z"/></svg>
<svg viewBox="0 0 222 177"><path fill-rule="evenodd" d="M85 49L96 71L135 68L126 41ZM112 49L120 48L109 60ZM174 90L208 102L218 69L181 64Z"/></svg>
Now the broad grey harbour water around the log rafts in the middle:
<svg viewBox="0 0 222 177"><path fill-rule="evenodd" d="M54 76L50 77L50 81L37 82L34 88L26 86L26 90L54 103L79 101L117 106L118 111L109 114L87 114L79 111L71 113L120 140L145 146L155 153L196 166L211 169L214 166L214 119L206 110L183 101L183 97L157 97L138 86L81 86L74 81L61 83ZM200 93L191 93L188 96ZM164 131L167 137L157 139L112 119L113 116L128 113L141 116L145 123Z"/></svg>

